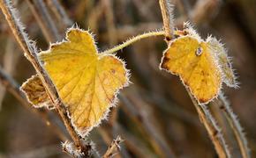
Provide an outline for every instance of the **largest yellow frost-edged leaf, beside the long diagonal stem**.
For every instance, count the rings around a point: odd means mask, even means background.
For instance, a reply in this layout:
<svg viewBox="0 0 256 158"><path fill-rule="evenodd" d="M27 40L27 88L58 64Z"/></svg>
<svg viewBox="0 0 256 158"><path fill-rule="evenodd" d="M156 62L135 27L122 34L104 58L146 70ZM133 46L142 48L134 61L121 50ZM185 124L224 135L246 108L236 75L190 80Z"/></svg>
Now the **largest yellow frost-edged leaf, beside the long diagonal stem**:
<svg viewBox="0 0 256 158"><path fill-rule="evenodd" d="M39 58L82 137L106 118L117 91L128 84L124 62L99 54L87 31L70 29L66 41L42 51Z"/></svg>

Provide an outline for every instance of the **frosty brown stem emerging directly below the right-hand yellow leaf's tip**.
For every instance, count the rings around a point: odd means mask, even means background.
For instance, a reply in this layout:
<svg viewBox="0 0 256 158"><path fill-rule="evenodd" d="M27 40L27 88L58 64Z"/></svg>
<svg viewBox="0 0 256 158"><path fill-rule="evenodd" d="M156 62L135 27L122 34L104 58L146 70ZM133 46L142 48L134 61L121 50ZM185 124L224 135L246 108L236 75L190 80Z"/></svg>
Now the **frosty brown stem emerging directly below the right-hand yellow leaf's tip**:
<svg viewBox="0 0 256 158"><path fill-rule="evenodd" d="M209 134L210 139L215 145L215 150L219 157L230 157L230 150L226 145L226 141L223 138L221 129L217 126L215 118L211 115L210 111L207 109L207 106L203 104L198 104L197 101L192 97L190 91L186 88L189 96L192 99L196 110L199 113L200 121L204 124Z"/></svg>

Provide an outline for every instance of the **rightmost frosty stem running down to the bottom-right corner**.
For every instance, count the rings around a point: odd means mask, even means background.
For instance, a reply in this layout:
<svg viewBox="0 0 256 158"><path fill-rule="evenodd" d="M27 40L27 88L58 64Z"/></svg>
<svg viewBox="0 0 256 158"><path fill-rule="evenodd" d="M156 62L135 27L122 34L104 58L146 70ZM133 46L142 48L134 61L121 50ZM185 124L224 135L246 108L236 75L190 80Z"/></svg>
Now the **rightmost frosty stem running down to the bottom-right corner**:
<svg viewBox="0 0 256 158"><path fill-rule="evenodd" d="M236 114L232 111L229 101L223 94L220 95L219 101L221 102L219 104L220 109L224 112L225 117L228 119L228 122L235 133L242 156L244 158L251 157L248 142L246 140L245 133L243 133L243 127L240 125Z"/></svg>

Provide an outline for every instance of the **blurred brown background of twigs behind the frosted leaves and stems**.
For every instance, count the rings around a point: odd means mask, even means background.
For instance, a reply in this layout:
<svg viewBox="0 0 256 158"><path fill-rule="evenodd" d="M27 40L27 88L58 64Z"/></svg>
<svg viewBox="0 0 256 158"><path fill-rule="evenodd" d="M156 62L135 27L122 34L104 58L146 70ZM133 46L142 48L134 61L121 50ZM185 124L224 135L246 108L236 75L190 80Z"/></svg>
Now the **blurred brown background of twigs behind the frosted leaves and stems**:
<svg viewBox="0 0 256 158"><path fill-rule="evenodd" d="M222 39L233 58L240 88L223 87L232 108L245 129L252 157L256 154L256 1L172 0L175 25L190 20L203 38L212 34ZM41 50L49 42L61 41L74 23L95 34L99 50L125 39L162 28L156 0L15 0L14 5L26 31ZM88 138L100 154L117 135L124 138L117 157L217 157L214 146L195 111L184 85L175 75L158 66L166 48L162 37L143 39L117 55L131 69L132 84L118 96L108 121L103 121ZM34 75L0 13L1 68L18 84ZM68 137L55 111L41 115L24 108L4 86L0 86L0 157L68 157L61 150L60 135L45 125L50 115ZM211 111L222 126L233 157L241 157L237 142L218 106ZM48 114L46 114L48 113Z"/></svg>

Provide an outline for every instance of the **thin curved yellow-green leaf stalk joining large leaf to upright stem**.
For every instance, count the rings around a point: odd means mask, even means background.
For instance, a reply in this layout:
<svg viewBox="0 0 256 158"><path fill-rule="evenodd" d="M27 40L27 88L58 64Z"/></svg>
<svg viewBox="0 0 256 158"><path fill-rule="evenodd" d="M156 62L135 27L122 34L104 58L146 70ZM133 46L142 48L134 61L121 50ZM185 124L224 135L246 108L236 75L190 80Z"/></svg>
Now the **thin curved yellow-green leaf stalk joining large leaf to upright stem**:
<svg viewBox="0 0 256 158"><path fill-rule="evenodd" d="M105 50L100 54L114 54L115 52L117 52L118 50L123 49L124 47L128 47L129 45L132 45L134 42L140 40L140 39L146 39L152 36L163 36L165 34L165 32L163 31L154 31L154 32L146 32L140 35L137 35L131 39L128 39L126 41L124 41L123 44L120 44L116 47L113 47L111 49Z"/></svg>

